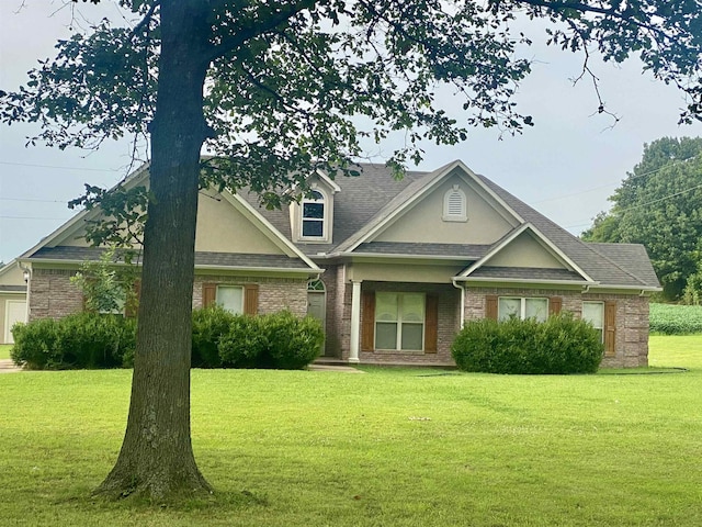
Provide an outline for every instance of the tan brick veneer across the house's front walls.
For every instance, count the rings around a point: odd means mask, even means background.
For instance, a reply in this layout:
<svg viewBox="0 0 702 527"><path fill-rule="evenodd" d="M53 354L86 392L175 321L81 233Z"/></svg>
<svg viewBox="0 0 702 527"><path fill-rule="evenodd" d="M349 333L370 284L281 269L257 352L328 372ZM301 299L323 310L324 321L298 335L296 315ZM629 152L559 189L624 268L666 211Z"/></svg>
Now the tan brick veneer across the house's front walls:
<svg viewBox="0 0 702 527"><path fill-rule="evenodd" d="M80 290L70 283L76 270L35 269L32 274L30 321L59 318L78 313L83 307ZM331 266L322 274L327 291L326 355L349 359L351 328L351 283L347 282L342 266ZM193 288L193 307L202 306L203 283L259 284L259 313L288 309L304 316L307 312L306 278L230 277L197 274ZM460 292L446 284L401 282L362 283L362 291L424 292L439 295L438 351L435 354L401 354L361 351L363 363L453 365L451 343L458 330ZM562 310L581 316L582 301L616 302L615 354L605 357L603 367L633 368L648 365L648 298L614 293L582 293L580 290L471 288L466 289L464 316L466 321L485 316L487 295L561 296ZM363 315L362 315L363 316Z"/></svg>

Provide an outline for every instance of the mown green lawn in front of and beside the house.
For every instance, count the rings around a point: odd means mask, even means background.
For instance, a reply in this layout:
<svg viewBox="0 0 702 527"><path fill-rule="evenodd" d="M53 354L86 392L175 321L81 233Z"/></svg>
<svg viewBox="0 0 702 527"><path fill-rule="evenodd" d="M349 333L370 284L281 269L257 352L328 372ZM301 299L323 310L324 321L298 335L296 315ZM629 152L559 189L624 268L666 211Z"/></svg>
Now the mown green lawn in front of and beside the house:
<svg viewBox="0 0 702 527"><path fill-rule="evenodd" d="M0 524L702 525L702 336L652 338L650 362L689 371L195 370L193 446L218 492L178 508L89 497L129 371L5 373Z"/></svg>

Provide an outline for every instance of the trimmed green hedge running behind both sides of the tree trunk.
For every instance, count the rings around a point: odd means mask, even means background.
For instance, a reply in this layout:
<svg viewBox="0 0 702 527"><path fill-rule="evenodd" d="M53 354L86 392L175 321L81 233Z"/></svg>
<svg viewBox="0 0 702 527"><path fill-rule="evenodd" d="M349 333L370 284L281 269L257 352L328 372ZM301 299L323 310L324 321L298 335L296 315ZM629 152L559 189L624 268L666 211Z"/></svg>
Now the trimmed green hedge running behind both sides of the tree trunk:
<svg viewBox="0 0 702 527"><path fill-rule="evenodd" d="M12 328L12 360L32 370L131 368L136 321L80 313ZM233 315L219 306L193 311L193 368L302 369L319 355L321 324L290 311Z"/></svg>

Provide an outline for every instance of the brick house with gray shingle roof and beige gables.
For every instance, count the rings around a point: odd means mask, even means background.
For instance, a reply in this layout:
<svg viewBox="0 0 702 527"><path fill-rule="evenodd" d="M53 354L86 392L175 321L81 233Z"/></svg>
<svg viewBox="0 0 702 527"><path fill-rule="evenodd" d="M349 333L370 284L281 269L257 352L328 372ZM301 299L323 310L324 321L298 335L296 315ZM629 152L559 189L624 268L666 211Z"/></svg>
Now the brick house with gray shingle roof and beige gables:
<svg viewBox="0 0 702 527"><path fill-rule="evenodd" d="M647 365L648 295L660 284L643 246L584 243L462 161L400 181L360 169L310 173L312 192L278 211L247 192L201 192L193 307L310 313L330 360L435 366L453 365L465 321L568 311L599 329L604 366ZM146 168L127 181L146 183ZM80 237L95 214L20 257L30 319L82 309L69 279L100 254Z"/></svg>

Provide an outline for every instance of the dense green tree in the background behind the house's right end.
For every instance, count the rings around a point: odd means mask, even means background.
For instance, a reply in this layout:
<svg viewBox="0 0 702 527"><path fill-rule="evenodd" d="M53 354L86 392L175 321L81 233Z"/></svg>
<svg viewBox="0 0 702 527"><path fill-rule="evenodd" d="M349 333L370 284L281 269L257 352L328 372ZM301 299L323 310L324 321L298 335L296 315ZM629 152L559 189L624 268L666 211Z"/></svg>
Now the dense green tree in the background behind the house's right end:
<svg viewBox="0 0 702 527"><path fill-rule="evenodd" d="M644 244L669 300L681 298L702 259L702 137L663 137L610 197L581 237Z"/></svg>

